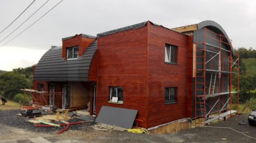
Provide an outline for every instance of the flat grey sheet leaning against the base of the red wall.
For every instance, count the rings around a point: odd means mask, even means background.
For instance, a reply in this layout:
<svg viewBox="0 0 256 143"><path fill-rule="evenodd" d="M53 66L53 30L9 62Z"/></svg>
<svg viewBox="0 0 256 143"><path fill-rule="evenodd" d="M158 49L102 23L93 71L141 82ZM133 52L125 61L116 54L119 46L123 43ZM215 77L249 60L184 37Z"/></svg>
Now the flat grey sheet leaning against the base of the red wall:
<svg viewBox="0 0 256 143"><path fill-rule="evenodd" d="M137 113L138 110L102 106L95 122L122 128L132 128Z"/></svg>

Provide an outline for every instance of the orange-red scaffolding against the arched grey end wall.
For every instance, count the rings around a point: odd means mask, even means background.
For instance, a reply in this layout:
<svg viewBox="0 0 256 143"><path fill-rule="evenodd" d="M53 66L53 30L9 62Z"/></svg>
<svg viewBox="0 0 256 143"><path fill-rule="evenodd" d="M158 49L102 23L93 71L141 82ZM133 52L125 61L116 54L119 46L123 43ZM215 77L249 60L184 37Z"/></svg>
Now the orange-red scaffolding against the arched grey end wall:
<svg viewBox="0 0 256 143"><path fill-rule="evenodd" d="M227 37L204 28L204 40L194 46L194 117L202 126L239 109L239 55ZM235 98L233 95L236 95ZM218 114L212 117L212 114ZM197 124L197 119L201 119Z"/></svg>

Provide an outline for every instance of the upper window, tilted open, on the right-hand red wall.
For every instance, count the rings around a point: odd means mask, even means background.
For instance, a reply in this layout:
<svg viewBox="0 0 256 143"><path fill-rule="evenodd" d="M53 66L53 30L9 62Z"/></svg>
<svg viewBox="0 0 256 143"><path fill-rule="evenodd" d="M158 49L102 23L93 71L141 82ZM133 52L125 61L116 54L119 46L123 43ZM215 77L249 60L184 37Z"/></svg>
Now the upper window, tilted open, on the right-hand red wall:
<svg viewBox="0 0 256 143"><path fill-rule="evenodd" d="M177 63L178 47L166 44L165 62Z"/></svg>

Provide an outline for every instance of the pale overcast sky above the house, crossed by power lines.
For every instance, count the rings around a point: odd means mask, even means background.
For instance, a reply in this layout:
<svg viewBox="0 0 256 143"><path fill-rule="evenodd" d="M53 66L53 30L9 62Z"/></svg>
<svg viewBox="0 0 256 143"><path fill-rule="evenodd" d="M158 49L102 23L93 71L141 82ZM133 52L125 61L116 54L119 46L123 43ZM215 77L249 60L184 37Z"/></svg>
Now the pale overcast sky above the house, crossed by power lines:
<svg viewBox="0 0 256 143"><path fill-rule="evenodd" d="M0 0L0 31L33 0ZM47 0L36 0L9 28L0 41L16 29ZM50 0L31 19L0 43L0 46L50 10L60 0ZM12 70L36 64L51 46L62 46L62 38L75 34L94 35L131 24L152 21L168 28L204 20L219 23L233 41L233 47L256 48L256 1L193 0L64 0L46 16L10 43L0 47L0 69Z"/></svg>

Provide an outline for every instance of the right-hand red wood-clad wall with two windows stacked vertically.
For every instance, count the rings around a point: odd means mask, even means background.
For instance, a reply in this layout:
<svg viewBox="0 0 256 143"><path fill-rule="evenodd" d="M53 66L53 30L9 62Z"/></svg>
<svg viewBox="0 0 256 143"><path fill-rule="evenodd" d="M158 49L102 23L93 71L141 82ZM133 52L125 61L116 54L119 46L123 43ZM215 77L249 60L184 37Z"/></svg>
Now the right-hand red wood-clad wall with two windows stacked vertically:
<svg viewBox="0 0 256 143"><path fill-rule="evenodd" d="M187 117L187 39L178 32L148 25L148 128ZM165 46L178 47L178 64L165 63ZM178 87L178 103L164 103L165 87Z"/></svg>

